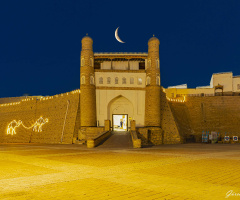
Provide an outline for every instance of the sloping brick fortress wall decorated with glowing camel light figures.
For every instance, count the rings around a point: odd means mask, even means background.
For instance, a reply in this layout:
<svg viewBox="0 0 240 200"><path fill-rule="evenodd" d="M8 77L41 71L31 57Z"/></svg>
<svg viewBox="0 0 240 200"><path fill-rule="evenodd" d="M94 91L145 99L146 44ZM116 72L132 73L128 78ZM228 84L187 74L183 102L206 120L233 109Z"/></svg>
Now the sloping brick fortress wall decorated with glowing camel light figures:
<svg viewBox="0 0 240 200"><path fill-rule="evenodd" d="M68 95L67 95L68 94ZM80 122L79 93L69 92L53 97L45 97L45 100L31 98L29 101L21 101L20 104L0 105L0 142L1 143L60 143L65 121L65 114L69 101L68 113L63 132L63 143L72 143L73 135L77 135ZM13 120L21 120L23 125L31 127L40 117L48 118L48 122L42 125L42 132L35 132L32 128L16 127L16 134L7 135L8 124ZM78 126L78 127L77 127Z"/></svg>

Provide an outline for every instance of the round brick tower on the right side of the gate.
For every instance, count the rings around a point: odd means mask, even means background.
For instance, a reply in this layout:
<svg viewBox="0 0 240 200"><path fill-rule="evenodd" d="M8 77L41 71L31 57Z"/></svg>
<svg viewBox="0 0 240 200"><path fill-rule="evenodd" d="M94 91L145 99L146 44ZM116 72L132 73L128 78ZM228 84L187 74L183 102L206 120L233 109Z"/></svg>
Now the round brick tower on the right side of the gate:
<svg viewBox="0 0 240 200"><path fill-rule="evenodd" d="M145 126L161 126L159 45L160 41L156 37L152 37L148 41Z"/></svg>

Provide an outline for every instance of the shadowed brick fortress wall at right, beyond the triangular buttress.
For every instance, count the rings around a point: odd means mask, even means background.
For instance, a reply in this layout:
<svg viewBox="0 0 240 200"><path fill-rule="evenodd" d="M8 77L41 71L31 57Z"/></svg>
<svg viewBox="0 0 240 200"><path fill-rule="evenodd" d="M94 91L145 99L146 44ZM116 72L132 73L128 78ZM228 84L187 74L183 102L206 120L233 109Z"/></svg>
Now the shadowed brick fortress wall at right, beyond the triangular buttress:
<svg viewBox="0 0 240 200"><path fill-rule="evenodd" d="M240 97L187 97L185 103L171 102L173 115L185 138L201 142L202 131L216 131L223 138L240 137Z"/></svg>

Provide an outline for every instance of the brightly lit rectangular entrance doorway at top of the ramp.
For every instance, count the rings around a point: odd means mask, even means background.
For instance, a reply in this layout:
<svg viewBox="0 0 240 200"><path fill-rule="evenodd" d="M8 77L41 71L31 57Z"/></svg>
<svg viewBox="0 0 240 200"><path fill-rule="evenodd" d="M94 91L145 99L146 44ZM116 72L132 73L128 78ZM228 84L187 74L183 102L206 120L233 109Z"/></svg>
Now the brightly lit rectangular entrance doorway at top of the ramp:
<svg viewBox="0 0 240 200"><path fill-rule="evenodd" d="M128 131L128 115L112 115L113 131Z"/></svg>

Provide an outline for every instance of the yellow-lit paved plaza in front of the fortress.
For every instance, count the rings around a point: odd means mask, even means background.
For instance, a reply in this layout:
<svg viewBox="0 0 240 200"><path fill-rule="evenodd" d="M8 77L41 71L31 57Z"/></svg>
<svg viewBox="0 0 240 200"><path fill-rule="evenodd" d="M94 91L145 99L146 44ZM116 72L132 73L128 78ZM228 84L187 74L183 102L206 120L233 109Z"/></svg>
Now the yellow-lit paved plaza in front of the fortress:
<svg viewBox="0 0 240 200"><path fill-rule="evenodd" d="M0 199L240 199L239 172L239 144L0 145Z"/></svg>

